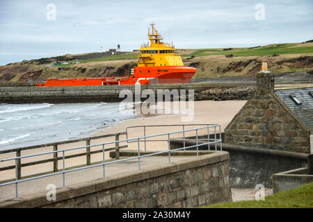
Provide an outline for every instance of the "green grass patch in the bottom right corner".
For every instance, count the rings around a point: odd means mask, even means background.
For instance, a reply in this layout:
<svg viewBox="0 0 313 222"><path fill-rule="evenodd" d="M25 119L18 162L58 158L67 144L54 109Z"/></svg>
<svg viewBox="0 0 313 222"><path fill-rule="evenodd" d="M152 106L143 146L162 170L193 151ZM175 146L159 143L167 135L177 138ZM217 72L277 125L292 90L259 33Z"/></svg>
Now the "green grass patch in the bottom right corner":
<svg viewBox="0 0 313 222"><path fill-rule="evenodd" d="M218 203L205 208L313 208L313 182L266 196L265 200Z"/></svg>

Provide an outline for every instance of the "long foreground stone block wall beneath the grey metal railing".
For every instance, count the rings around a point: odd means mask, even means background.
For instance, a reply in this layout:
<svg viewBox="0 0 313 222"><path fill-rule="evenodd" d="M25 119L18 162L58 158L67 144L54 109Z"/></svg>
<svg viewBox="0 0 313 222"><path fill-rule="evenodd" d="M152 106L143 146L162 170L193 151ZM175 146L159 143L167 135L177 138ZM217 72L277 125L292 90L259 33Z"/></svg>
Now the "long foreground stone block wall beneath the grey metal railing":
<svg viewBox="0 0 313 222"><path fill-rule="evenodd" d="M184 162L60 189L56 201L38 194L0 207L198 207L232 201L228 159L227 152L202 151Z"/></svg>

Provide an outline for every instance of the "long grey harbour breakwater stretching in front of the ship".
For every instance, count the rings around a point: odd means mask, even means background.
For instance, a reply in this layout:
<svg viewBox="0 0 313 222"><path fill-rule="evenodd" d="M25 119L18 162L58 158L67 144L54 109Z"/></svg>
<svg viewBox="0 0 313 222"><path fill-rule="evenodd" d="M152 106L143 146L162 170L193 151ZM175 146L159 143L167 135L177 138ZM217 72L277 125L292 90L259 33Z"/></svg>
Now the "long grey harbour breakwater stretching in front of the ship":
<svg viewBox="0 0 313 222"><path fill-rule="evenodd" d="M135 94L135 85L109 86L76 86L76 87L35 87L1 86L0 103L84 103L84 102L120 102L122 89L130 90ZM172 92L177 89L194 90L194 100L247 100L255 92L255 83L188 83L179 85L141 85L141 92L151 89L157 94L159 89L168 89ZM180 96L180 95L179 95ZM146 98L142 98L145 101Z"/></svg>

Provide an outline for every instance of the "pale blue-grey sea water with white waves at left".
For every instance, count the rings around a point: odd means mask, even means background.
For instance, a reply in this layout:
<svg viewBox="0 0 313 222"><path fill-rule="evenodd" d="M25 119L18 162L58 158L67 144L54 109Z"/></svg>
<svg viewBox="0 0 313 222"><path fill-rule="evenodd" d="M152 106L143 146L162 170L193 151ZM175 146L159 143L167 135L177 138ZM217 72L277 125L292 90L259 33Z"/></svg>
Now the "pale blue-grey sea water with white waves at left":
<svg viewBox="0 0 313 222"><path fill-rule="evenodd" d="M120 103L0 103L0 150L88 137L135 117Z"/></svg>

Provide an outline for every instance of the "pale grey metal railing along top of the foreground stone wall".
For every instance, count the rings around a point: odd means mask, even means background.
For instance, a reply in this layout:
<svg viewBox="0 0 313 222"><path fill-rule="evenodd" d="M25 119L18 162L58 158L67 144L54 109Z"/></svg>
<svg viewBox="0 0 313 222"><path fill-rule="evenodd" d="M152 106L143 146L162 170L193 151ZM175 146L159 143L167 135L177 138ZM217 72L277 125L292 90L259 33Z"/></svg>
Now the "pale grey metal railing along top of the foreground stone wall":
<svg viewBox="0 0 313 222"><path fill-rule="evenodd" d="M149 157L149 156L152 156L152 155L159 155L159 154L162 154L162 153L168 153L168 162L170 163L170 153L172 151L181 151L181 150L185 150L185 149L188 149L188 148L196 148L196 151L197 151L197 157L199 156L199 149L198 147L199 146L204 146L204 145L209 145L209 144L217 144L217 143L220 143L220 151L222 151L222 139L216 139L216 135L215 135L215 139L209 139L209 136L208 136L208 139L202 139L202 140L207 140L206 143L202 143L202 144L198 144L198 131L199 130L202 130L202 129L207 129L209 130L209 128L214 128L215 132L216 132L216 127L219 127L220 128L220 124L204 124L204 125L207 125L205 127L202 127L202 128L192 128L192 129L188 129L188 130L179 130L179 131L174 131L174 132L170 132L170 133L161 133L161 134L158 134L158 135L148 135L148 136L145 136L145 137L136 137L136 138L133 138L133 139L122 139L122 140L118 140L118 141L114 141L114 142L105 142L105 143L102 143L102 144L93 144L93 145L88 145L88 146L79 146L79 147L75 147L75 148L67 148L67 149L63 149L61 151L49 151L49 152L45 152L45 153L37 153L37 154L33 154L33 155L24 155L24 156L19 156L19 157L11 157L11 158L7 158L7 159L4 159L4 160L0 160L0 162L6 162L6 161L12 161L12 160L15 160L15 180L14 181L11 181L11 182L6 182L6 183L3 183L3 184L0 184L0 187L3 187L3 186L8 186L8 185L13 185L15 184L15 199L18 199L18 184L20 182L26 182L26 181L29 181L29 180L36 180L36 179L39 179L39 178L45 178L45 177L49 177L49 176L55 176L55 175L59 175L59 174L62 174L63 175L63 188L65 188L65 173L69 173L69 172L73 172L73 171L80 171L80 170L83 170L83 169L89 169L89 168L93 168L93 167L103 167L103 178L105 178L105 167L106 165L108 164L114 164L114 163L117 163L117 162L124 162L124 161L128 161L128 160L135 160L135 159L138 159L138 170L141 169L141 158L143 157ZM193 146L184 146L182 148L175 148L175 149L170 149L170 135L174 135L174 134L178 134L178 133L186 133L186 132L191 132L191 131L195 131L195 139L197 140L197 144L196 145L193 145ZM157 153L150 153L150 154L146 154L146 155L141 155L141 149L140 149L140 142L143 142L143 139L147 139L147 138L152 138L152 137L159 137L159 136L164 136L164 135L167 135L168 136L168 150L166 151L160 151L160 152L157 152ZM220 137L221 138L221 137ZM177 139L175 139L177 140ZM186 139L183 139L184 141ZM159 141L159 140L158 140ZM122 159L122 160L115 160L115 161L111 161L111 162L105 162L105 157L104 157L104 152L107 151L107 150L111 150L111 148L105 148L106 145L109 145L109 144L115 144L115 143L122 143L122 142L137 142L138 143L138 156L135 156L135 157L128 157L128 158L125 158L125 159ZM102 146L102 163L99 163L99 164L94 164L94 165L91 165L91 166L86 166L86 167L79 167L79 168L75 168L75 169L65 169L65 152L67 151L74 151L74 150L78 150L78 149L81 149L81 148L91 148L93 146ZM215 150L217 152L217 149ZM54 173L48 173L48 174L45 174L45 175L42 175L42 176L34 176L34 177L31 177L31 178L25 178L25 179L19 179L18 178L18 175L17 175L17 165L18 165L18 162L23 159L23 158L28 158L28 157L35 157L35 156L39 156L39 155L47 155L47 154L51 154L51 153L62 153L62 160L63 160L63 169L62 171L58 171L58 172L54 172Z"/></svg>

